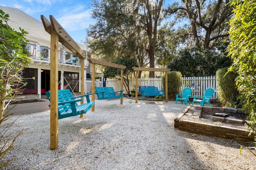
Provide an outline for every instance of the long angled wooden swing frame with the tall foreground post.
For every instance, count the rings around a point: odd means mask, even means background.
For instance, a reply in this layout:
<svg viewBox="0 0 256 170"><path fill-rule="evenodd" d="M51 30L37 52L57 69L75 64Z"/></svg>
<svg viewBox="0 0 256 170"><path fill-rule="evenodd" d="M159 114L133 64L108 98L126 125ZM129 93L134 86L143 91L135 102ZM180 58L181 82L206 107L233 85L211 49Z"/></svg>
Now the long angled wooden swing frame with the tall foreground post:
<svg viewBox="0 0 256 170"><path fill-rule="evenodd" d="M77 45L77 43L68 35L64 28L58 23L55 18L50 15L48 21L43 15L41 20L44 29L51 35L50 42L50 149L58 147L58 42L62 43L72 53L78 56L81 60L81 82L84 82L84 60L86 53ZM120 64L109 63L87 57L92 63L92 101L95 100L95 64L110 66L121 69L121 89L123 89L123 72L126 66ZM81 94L84 94L84 83L81 83ZM81 102L83 103L83 101ZM120 98L120 104L123 104L123 98ZM92 111L94 111L92 106ZM84 117L84 115L80 115Z"/></svg>

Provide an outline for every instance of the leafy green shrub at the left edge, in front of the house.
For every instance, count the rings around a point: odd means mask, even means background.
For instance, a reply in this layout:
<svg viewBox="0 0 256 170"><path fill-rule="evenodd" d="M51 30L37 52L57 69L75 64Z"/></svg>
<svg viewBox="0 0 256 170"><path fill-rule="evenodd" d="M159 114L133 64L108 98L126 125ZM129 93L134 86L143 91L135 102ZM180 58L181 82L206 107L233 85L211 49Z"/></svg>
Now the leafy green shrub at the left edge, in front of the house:
<svg viewBox="0 0 256 170"><path fill-rule="evenodd" d="M22 70L31 62L24 37L28 32L21 28L20 32L12 29L7 23L8 18L9 15L0 10L0 120L13 96L26 85L22 83ZM9 100L7 104L6 100Z"/></svg>

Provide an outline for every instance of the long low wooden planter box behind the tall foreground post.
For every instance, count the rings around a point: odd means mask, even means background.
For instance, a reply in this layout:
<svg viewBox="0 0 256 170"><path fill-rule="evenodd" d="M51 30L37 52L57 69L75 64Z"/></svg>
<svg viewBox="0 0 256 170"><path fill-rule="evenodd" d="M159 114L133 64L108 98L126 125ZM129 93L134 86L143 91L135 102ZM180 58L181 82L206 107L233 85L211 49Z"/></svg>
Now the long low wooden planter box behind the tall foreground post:
<svg viewBox="0 0 256 170"><path fill-rule="evenodd" d="M24 104L10 104L7 107L5 113L13 113L13 115L26 114L26 113L36 113L40 111L45 111L50 109L50 102L34 102L34 103L24 103Z"/></svg>

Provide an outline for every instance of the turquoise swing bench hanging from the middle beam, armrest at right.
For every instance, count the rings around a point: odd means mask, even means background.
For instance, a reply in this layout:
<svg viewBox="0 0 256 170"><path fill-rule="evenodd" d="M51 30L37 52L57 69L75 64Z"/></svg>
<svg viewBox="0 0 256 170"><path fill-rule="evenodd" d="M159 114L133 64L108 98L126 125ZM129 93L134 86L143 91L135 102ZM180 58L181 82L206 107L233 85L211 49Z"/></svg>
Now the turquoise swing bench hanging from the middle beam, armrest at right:
<svg viewBox="0 0 256 170"><path fill-rule="evenodd" d="M122 98L124 90L115 92L113 87L95 87L95 94L97 94L98 100ZM120 95L116 95L120 92Z"/></svg>

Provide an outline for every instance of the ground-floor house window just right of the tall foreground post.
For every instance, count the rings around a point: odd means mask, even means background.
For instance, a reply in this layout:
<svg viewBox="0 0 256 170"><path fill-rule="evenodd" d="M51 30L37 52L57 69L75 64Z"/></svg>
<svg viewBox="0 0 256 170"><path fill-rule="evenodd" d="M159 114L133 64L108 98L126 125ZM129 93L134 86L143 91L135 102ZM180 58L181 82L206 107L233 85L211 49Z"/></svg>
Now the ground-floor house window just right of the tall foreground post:
<svg viewBox="0 0 256 170"><path fill-rule="evenodd" d="M70 89L74 92L79 92L79 73L64 72L64 89ZM71 87L71 88L70 88Z"/></svg>

